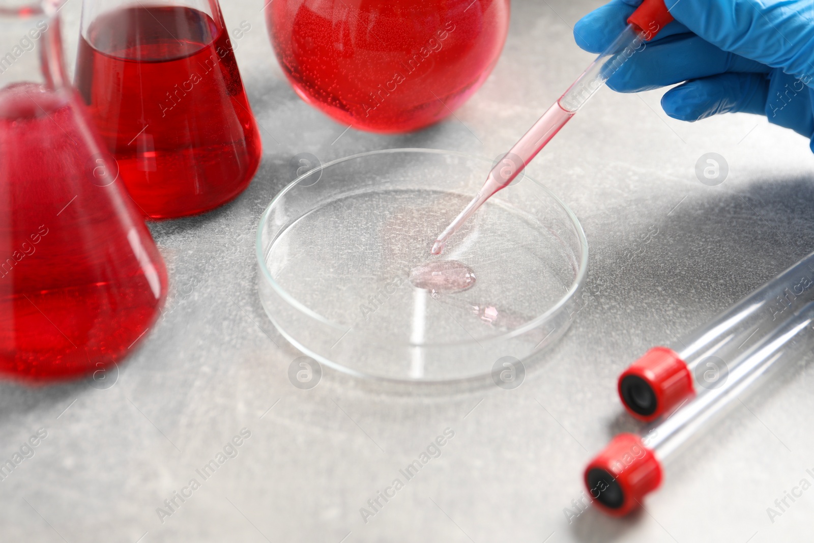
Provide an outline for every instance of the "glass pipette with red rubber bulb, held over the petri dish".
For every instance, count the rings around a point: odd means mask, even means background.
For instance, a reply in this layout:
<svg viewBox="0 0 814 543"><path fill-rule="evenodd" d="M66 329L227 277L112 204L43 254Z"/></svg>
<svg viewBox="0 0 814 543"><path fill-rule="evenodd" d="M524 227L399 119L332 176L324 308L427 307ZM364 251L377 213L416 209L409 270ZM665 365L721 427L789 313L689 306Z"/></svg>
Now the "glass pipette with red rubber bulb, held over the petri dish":
<svg viewBox="0 0 814 543"><path fill-rule="evenodd" d="M602 87L625 62L666 24L672 21L664 0L645 0L628 18L628 26L597 56L565 94L557 100L540 120L520 138L519 142L492 168L484 186L466 208L435 240L432 254L440 255L444 244L455 231L498 190L509 186L545 145L554 138L571 117Z"/></svg>

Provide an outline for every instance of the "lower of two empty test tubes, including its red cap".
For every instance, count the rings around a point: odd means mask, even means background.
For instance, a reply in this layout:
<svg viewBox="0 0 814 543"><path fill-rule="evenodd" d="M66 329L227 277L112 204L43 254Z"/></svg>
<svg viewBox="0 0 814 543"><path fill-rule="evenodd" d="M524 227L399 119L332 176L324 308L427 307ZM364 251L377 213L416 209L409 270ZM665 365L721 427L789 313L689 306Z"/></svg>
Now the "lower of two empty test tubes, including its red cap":
<svg viewBox="0 0 814 543"><path fill-rule="evenodd" d="M755 392L769 374L799 360L814 347L814 302L808 302L771 334L739 357L728 379L695 397L640 435L610 441L585 469L584 482L594 503L609 515L627 515L646 494L659 488L664 465L702 436L742 397Z"/></svg>

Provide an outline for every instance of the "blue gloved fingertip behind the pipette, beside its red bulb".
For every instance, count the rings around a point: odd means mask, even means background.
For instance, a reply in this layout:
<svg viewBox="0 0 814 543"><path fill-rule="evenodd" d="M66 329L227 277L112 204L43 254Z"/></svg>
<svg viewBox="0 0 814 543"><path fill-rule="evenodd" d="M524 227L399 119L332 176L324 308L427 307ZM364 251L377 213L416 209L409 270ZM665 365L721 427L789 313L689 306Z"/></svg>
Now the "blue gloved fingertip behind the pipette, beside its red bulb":
<svg viewBox="0 0 814 543"><path fill-rule="evenodd" d="M610 0L609 3L591 11L574 25L574 39L582 49L602 53L607 46L628 26L628 17L641 0ZM683 24L670 23L652 42L673 34L689 32Z"/></svg>

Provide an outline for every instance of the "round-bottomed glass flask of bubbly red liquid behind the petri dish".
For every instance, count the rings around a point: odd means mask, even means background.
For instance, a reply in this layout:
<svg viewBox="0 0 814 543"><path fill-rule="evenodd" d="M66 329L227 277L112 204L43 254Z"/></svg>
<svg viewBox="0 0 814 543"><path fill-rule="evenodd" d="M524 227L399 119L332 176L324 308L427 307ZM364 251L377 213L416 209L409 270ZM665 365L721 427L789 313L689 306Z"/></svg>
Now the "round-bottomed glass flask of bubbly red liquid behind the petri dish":
<svg viewBox="0 0 814 543"><path fill-rule="evenodd" d="M510 0L274 0L265 8L297 94L345 125L421 129L492 71Z"/></svg>

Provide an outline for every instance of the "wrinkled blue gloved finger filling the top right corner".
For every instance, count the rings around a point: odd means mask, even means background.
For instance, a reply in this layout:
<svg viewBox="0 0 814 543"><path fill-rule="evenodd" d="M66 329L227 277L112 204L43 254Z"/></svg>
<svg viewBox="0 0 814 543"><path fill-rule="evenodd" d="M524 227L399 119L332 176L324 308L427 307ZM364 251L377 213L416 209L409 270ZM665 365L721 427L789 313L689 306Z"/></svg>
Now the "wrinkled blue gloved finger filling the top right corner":
<svg viewBox="0 0 814 543"><path fill-rule="evenodd" d="M667 0L670 13L721 49L814 77L814 0Z"/></svg>

